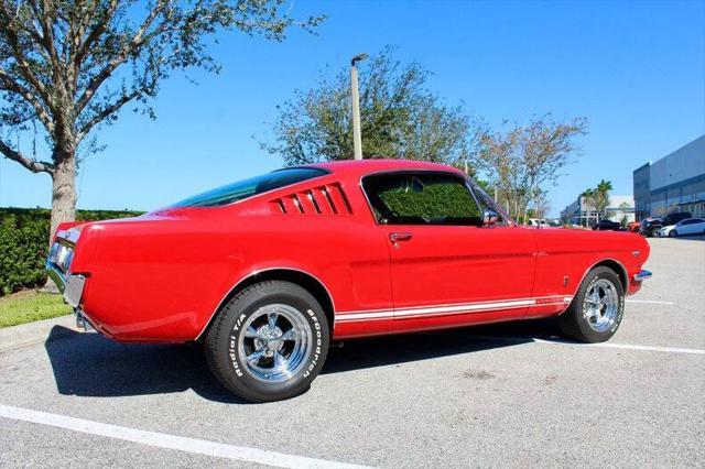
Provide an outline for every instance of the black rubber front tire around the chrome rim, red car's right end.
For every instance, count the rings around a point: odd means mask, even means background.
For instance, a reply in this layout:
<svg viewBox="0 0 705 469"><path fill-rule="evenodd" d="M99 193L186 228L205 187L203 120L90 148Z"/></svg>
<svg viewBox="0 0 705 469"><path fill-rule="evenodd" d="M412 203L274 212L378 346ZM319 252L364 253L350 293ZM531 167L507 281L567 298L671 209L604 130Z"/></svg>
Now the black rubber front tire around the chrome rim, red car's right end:
<svg viewBox="0 0 705 469"><path fill-rule="evenodd" d="M611 323L606 323L605 330L596 330L596 325L586 317L586 314L590 310L586 303L586 295L588 291L595 285L606 285L614 288L615 297L612 309ZM599 290L599 288L598 288ZM611 295L611 292L610 292ZM619 280L619 275L607 266L598 266L590 270L583 283L581 284L577 294L573 297L571 306L558 316L558 325L561 330L568 337L583 342L604 342L615 335L619 328L622 316L625 314L625 288Z"/></svg>

